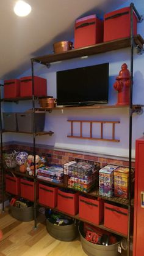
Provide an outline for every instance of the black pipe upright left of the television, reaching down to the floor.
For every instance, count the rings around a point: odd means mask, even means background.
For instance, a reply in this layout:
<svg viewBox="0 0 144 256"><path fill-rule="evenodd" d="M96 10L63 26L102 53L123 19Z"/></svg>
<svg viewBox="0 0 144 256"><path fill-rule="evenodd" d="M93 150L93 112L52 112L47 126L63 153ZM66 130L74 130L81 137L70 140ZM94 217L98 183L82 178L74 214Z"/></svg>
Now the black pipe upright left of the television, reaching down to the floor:
<svg viewBox="0 0 144 256"><path fill-rule="evenodd" d="M32 68L32 124L33 124L33 155L34 155L34 228L37 228L37 198L36 198L36 173L35 173L35 96L34 96L34 60L31 60Z"/></svg>

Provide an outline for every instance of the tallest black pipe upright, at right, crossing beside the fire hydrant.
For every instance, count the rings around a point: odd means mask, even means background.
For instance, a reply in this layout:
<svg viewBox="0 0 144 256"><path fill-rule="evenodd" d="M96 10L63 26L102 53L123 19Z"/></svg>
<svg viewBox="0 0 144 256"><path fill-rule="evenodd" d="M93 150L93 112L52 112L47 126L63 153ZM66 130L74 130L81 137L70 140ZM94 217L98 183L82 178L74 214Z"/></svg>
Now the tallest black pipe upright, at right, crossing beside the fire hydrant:
<svg viewBox="0 0 144 256"><path fill-rule="evenodd" d="M131 227L131 160L132 160L132 85L133 85L133 62L134 62L134 29L133 13L134 4L131 3L131 86L129 96L129 206L128 206L128 256L130 255L130 227Z"/></svg>

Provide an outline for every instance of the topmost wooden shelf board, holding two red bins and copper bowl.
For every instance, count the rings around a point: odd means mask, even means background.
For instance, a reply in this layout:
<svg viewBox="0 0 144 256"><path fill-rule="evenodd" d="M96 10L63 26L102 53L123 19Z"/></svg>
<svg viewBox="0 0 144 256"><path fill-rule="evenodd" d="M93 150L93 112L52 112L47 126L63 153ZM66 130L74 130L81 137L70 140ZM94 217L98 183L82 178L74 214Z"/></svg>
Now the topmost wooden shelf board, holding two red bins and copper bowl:
<svg viewBox="0 0 144 256"><path fill-rule="evenodd" d="M134 42L136 45L140 45L140 47L142 47L142 45L144 44L143 38L139 34L137 36L134 36ZM82 56L90 56L98 53L109 52L112 50L118 50L121 48L130 47L130 46L131 46L131 38L124 37L124 38L109 41L109 42L103 42L101 44L95 44L95 45L90 45L88 47L68 50L62 53L54 53L54 54L49 54L45 56L38 56L38 57L32 58L31 60L38 61L41 64L48 64L48 63L54 63L56 61L70 60L72 58L79 58Z"/></svg>

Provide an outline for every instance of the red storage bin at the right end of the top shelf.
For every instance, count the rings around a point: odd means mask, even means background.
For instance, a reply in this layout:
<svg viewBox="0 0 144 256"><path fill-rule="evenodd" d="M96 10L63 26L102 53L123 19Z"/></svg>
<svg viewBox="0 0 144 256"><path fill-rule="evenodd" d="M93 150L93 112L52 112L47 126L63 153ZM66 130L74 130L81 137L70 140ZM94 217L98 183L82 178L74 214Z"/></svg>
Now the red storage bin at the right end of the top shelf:
<svg viewBox="0 0 144 256"><path fill-rule="evenodd" d="M137 17L134 18L134 35L137 34ZM104 42L129 37L131 31L131 8L125 7L104 15Z"/></svg>

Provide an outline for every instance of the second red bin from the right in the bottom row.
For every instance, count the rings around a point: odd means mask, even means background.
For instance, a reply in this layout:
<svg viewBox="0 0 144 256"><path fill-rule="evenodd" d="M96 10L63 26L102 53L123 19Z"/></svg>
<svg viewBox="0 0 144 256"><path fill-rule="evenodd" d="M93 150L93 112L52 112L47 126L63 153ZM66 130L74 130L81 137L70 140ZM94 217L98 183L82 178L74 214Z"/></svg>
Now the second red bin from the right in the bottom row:
<svg viewBox="0 0 144 256"><path fill-rule="evenodd" d="M79 196L79 217L99 225L104 219L104 200Z"/></svg>

